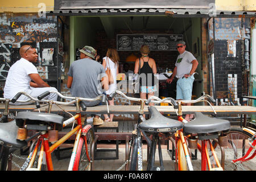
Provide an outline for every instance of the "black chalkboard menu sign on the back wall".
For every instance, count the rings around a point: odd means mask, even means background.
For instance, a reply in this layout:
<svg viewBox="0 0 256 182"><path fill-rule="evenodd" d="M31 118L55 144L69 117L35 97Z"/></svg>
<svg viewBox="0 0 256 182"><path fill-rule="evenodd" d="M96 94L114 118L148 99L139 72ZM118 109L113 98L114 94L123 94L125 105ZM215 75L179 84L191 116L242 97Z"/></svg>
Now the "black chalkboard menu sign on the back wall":
<svg viewBox="0 0 256 182"><path fill-rule="evenodd" d="M183 35L117 35L118 51L139 51L147 45L151 51L176 51L176 43Z"/></svg>

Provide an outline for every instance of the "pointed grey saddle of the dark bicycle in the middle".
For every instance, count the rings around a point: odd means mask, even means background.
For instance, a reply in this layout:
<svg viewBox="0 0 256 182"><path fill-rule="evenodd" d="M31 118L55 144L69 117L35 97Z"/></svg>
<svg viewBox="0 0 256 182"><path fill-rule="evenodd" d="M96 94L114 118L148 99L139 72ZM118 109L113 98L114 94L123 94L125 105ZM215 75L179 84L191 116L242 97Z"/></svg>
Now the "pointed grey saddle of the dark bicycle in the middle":
<svg viewBox="0 0 256 182"><path fill-rule="evenodd" d="M151 118L139 123L138 127L141 130L151 133L167 133L175 132L183 127L181 122L164 117L154 106L148 107L148 111L151 114Z"/></svg>

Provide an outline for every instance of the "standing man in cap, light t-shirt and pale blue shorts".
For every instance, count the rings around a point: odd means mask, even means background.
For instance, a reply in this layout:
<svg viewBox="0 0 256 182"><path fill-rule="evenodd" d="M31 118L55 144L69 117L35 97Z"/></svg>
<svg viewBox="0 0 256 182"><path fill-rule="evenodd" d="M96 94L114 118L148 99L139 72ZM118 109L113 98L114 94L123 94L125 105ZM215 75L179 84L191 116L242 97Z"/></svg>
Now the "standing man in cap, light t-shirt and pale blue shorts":
<svg viewBox="0 0 256 182"><path fill-rule="evenodd" d="M193 75L198 65L196 58L191 52L185 51L185 48L184 41L177 42L177 51L180 55L177 57L171 78L166 80L167 83L171 84L175 76L178 78L176 100L191 100L193 81L195 80ZM191 104L185 105L190 106ZM192 117L193 114L187 114L184 119L189 121Z"/></svg>

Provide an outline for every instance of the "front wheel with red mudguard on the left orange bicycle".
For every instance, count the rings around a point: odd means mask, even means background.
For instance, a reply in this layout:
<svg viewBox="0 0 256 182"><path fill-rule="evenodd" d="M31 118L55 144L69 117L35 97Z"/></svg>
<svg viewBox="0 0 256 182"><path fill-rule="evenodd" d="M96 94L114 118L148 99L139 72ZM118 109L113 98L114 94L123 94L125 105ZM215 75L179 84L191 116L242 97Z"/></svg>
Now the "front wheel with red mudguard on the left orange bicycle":
<svg viewBox="0 0 256 182"><path fill-rule="evenodd" d="M94 140L93 129L90 128L85 136L81 136L79 140L79 145L77 147L77 153L75 157L75 163L73 166L73 171L90 171L92 158L91 150L92 143Z"/></svg>

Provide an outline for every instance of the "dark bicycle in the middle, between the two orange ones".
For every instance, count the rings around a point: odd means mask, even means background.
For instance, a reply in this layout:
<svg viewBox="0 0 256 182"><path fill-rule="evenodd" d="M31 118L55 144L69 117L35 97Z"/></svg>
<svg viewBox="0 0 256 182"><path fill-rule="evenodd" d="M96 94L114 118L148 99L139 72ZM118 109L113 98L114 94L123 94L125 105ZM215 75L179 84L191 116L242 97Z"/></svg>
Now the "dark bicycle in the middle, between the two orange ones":
<svg viewBox="0 0 256 182"><path fill-rule="evenodd" d="M146 139L148 146L150 146L150 158L148 159L147 171L164 170L159 134L164 133L168 136L174 135L176 131L182 129L183 124L174 119L164 117L162 114L159 113L159 111L154 106L148 107L148 111L151 115L151 118L146 120L143 117L143 114L144 114L143 109L144 109L144 104L148 105L150 102L153 102L155 104L168 102L176 108L177 104L175 100L172 98L164 98L163 100L161 100L160 98L154 97L154 96L153 97L157 99L157 101L150 100L150 99L145 100L141 98L127 97L125 94L123 94L119 90L116 90L115 93L120 94L121 96L125 97L127 100L141 102L141 106L138 111L139 118L138 118L136 131L133 132L133 137L130 142L129 154L127 157L128 163L129 163L129 170L142 171L143 169L142 167L142 136ZM115 93L110 94L109 97L113 98ZM152 139L150 139L150 135L152 135ZM155 166L156 144L158 144L160 167ZM190 161L190 158L188 158L188 161Z"/></svg>

